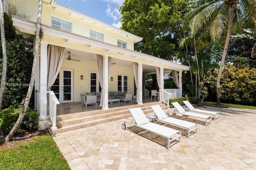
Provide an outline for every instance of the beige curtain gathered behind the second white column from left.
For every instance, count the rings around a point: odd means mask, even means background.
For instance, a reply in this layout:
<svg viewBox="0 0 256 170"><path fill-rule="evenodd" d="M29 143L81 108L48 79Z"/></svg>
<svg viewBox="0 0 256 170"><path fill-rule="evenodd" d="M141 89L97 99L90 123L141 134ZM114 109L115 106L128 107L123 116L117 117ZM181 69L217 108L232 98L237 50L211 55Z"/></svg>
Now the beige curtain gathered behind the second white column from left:
<svg viewBox="0 0 256 170"><path fill-rule="evenodd" d="M98 61L98 75L99 75L99 81L100 81L100 87L101 89L103 89L103 56L97 54L97 61ZM111 57L108 57L108 83L110 80L110 71L111 71ZM103 106L103 100L105 98L105 94L103 93L103 91L101 91L100 93L100 107Z"/></svg>

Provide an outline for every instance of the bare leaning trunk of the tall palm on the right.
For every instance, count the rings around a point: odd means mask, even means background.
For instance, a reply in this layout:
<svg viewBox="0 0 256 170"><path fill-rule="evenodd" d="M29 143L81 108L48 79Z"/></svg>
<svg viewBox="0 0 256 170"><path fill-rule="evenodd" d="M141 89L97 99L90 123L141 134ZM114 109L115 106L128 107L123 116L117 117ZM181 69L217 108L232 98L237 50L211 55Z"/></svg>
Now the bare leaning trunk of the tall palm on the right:
<svg viewBox="0 0 256 170"><path fill-rule="evenodd" d="M216 85L217 105L220 105L220 77L222 75L222 69L223 69L223 65L224 65L225 58L226 58L227 51L228 51L228 44L230 41L231 30L232 30L232 25L233 25L233 20L234 20L234 12L235 12L235 4L232 4L229 22L228 22L228 32L227 32L226 42L225 42L222 59L220 62L219 73L218 73L218 77L217 77L217 85Z"/></svg>

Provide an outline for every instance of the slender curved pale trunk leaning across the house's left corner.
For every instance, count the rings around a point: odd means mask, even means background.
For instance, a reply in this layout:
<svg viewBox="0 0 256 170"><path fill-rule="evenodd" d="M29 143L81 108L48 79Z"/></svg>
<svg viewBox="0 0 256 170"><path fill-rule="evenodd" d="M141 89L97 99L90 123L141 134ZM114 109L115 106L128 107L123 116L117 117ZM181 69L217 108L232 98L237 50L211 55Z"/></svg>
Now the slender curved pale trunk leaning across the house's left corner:
<svg viewBox="0 0 256 170"><path fill-rule="evenodd" d="M26 95L26 98L24 101L22 101L22 111L20 112L20 115L18 117L18 120L16 121L14 127L10 131L10 133L6 136L5 140L9 141L12 139L14 136L15 132L17 131L18 127L20 126L23 117L26 113L26 110L28 108L28 104L30 101L30 97L33 91L33 86L34 86L34 81L35 81L35 73L36 73L36 65L37 65L37 58L38 58L38 51L39 51L39 43L40 43L40 28L41 28L41 18L42 18L42 1L39 0L38 4L38 16L37 16L37 24L36 24L36 43L35 43L35 52L34 52L34 61L32 65L32 73L31 73L31 78L30 78L30 84L28 87L28 92Z"/></svg>

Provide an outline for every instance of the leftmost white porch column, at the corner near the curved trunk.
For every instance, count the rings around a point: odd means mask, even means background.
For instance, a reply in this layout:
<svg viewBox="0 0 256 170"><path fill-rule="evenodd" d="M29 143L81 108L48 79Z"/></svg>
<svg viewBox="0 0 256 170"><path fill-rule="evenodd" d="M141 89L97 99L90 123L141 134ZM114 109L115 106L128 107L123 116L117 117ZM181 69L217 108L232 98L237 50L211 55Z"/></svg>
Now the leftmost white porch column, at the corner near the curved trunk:
<svg viewBox="0 0 256 170"><path fill-rule="evenodd" d="M48 42L41 42L40 48L40 107L39 119L48 119L47 116L47 45Z"/></svg>

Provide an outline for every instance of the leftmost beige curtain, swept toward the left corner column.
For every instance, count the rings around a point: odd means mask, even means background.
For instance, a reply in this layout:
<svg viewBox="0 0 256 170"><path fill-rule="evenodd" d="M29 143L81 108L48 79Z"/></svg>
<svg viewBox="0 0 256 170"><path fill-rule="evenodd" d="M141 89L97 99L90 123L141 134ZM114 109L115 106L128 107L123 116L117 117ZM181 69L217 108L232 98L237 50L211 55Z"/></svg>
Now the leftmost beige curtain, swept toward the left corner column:
<svg viewBox="0 0 256 170"><path fill-rule="evenodd" d="M64 57L64 47L56 45L48 45L47 47L47 90L51 90L51 87L56 80L60 67Z"/></svg>

